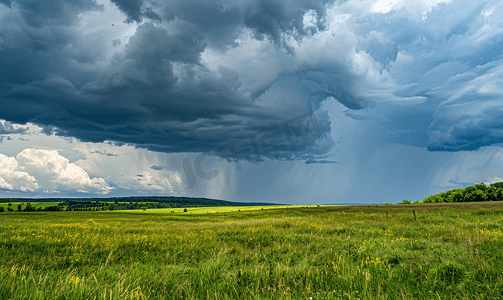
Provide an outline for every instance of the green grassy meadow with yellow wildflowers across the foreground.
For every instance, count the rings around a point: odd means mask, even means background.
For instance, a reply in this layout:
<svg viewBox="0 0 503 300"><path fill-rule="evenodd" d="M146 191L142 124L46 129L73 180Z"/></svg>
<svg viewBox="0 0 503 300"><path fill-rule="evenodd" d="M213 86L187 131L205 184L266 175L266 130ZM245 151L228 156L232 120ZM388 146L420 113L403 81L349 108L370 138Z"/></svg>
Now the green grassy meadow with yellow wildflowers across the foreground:
<svg viewBox="0 0 503 300"><path fill-rule="evenodd" d="M0 299L503 298L503 203L211 209L1 213Z"/></svg>

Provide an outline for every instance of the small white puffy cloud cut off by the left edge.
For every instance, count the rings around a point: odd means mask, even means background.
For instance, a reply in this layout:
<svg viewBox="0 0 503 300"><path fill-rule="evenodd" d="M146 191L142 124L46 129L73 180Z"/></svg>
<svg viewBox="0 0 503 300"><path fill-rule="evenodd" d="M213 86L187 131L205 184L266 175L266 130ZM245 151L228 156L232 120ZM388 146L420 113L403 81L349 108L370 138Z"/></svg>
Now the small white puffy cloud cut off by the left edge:
<svg viewBox="0 0 503 300"><path fill-rule="evenodd" d="M38 190L38 183L30 174L18 170L14 157L0 154L0 189L33 192Z"/></svg>

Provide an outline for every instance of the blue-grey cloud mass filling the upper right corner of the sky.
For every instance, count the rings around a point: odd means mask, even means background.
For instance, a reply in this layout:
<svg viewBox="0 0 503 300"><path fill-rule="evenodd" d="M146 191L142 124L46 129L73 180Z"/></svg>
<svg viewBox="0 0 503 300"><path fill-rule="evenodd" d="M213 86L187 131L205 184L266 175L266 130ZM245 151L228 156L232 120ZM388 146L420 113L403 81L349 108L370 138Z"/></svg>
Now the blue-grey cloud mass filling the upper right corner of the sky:
<svg viewBox="0 0 503 300"><path fill-rule="evenodd" d="M440 3L424 19L405 18L400 8L359 22L357 31L367 38L357 49L389 65L402 86L377 102L373 114L347 115L379 120L376 134L385 143L430 151L502 145L503 10L497 3Z"/></svg>

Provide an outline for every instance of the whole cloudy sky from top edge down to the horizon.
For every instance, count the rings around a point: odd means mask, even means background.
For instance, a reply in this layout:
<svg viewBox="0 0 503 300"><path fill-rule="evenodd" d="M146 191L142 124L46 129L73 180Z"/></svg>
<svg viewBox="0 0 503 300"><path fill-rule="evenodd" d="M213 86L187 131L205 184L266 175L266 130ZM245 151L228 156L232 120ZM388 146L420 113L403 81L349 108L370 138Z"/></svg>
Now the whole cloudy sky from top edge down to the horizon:
<svg viewBox="0 0 503 300"><path fill-rule="evenodd" d="M503 181L503 2L0 0L0 197Z"/></svg>

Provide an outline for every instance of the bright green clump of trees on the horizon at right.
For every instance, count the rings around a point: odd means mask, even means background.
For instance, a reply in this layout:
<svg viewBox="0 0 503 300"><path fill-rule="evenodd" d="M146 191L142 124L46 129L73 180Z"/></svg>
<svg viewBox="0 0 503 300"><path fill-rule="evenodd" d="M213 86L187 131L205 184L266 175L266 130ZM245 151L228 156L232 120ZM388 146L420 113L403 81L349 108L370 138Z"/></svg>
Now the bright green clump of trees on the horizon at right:
<svg viewBox="0 0 503 300"><path fill-rule="evenodd" d="M454 203L503 201L503 182L492 183L487 186L479 183L466 188L453 189L440 194L428 196L423 203Z"/></svg>

